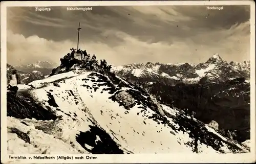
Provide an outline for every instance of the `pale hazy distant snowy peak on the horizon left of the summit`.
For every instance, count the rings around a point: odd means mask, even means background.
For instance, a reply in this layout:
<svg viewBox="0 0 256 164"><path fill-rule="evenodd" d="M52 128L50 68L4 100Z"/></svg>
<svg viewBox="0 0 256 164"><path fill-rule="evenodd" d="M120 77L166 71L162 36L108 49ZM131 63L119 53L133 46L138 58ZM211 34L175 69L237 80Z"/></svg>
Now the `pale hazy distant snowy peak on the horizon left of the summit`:
<svg viewBox="0 0 256 164"><path fill-rule="evenodd" d="M28 65L20 65L15 66L15 69L25 72L31 73L32 71L39 71L44 76L49 75L57 63L52 63L48 61L37 61L36 63L28 64Z"/></svg>

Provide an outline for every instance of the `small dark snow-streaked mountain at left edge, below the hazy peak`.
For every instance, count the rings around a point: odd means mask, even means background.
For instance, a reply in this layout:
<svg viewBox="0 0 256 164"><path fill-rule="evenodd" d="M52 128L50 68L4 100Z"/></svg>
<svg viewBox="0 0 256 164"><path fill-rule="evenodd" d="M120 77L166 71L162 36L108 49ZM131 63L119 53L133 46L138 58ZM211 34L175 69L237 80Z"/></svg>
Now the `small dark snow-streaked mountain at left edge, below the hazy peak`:
<svg viewBox="0 0 256 164"><path fill-rule="evenodd" d="M11 66L10 64L7 64L7 84L10 82L10 75L12 73L12 70L15 69L13 66ZM42 75L41 72L39 71L32 71L29 73L24 73L22 71L18 71L18 76L19 76L19 82L21 84L28 84L34 80L41 80L41 79L45 79L45 76Z"/></svg>

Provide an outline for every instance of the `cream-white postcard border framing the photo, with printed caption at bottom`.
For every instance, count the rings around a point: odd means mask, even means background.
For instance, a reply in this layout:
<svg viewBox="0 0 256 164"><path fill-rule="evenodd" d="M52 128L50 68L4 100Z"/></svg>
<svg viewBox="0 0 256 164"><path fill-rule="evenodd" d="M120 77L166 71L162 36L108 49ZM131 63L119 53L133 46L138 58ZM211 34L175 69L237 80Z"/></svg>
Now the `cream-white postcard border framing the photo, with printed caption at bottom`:
<svg viewBox="0 0 256 164"><path fill-rule="evenodd" d="M247 154L123 154L97 155L97 159L52 160L33 159L33 154L20 154L29 159L11 160L7 154L7 127L6 127L6 8L8 6L134 6L134 5L250 5L251 28L251 152ZM2 85L3 84L3 85ZM87 2L1 2L1 162L2 163L161 163L161 162L255 162L255 2L254 1L87 1ZM18 155L18 154L16 154ZM38 154L35 154L38 155ZM62 154L61 154L62 155ZM41 155L44 156L44 155ZM50 155L49 155L50 156ZM69 156L81 156L69 155ZM86 158L87 154L83 155Z"/></svg>

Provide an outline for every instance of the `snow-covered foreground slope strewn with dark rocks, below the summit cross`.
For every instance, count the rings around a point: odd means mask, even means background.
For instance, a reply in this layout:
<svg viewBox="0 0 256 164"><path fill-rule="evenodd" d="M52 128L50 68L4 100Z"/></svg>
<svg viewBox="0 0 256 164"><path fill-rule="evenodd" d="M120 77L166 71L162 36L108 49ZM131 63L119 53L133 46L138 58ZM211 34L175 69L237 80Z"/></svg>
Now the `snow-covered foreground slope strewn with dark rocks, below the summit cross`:
<svg viewBox="0 0 256 164"><path fill-rule="evenodd" d="M112 73L75 68L7 93L8 153L246 153Z"/></svg>

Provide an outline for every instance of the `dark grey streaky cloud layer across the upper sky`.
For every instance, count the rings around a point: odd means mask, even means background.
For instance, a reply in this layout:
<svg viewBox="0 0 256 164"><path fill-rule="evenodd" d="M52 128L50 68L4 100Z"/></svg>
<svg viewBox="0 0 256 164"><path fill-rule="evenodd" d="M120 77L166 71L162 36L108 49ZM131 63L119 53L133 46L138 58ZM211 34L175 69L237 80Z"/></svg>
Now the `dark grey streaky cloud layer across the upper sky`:
<svg viewBox="0 0 256 164"><path fill-rule="evenodd" d="M111 46L121 41L115 42L108 36L100 36L106 29L121 31L152 43L164 41L173 44L174 41L191 38L198 44L215 45L220 41L216 35L209 33L217 31L220 34L222 29L228 30L236 22L238 25L246 22L249 13L245 9L248 7L225 6L225 10L213 11L206 10L205 6L95 6L90 12L52 7L51 12L40 13L33 7L13 7L9 9L9 15L12 16L8 18L8 29L26 37L37 35L48 40L74 41L79 21L82 27L81 38L94 42L108 41L106 44ZM206 40L205 43L203 40Z"/></svg>

